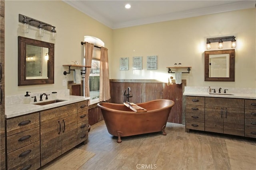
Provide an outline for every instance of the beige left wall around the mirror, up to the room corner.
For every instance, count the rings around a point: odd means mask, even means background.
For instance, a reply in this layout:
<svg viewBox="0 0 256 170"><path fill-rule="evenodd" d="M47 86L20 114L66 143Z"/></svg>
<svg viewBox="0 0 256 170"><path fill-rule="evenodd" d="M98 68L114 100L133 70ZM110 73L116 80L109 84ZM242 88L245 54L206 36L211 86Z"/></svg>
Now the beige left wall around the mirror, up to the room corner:
<svg viewBox="0 0 256 170"><path fill-rule="evenodd" d="M20 32L18 14L40 20L56 26L56 41L50 40L48 31L40 39L36 36L36 27L30 27L30 32ZM112 29L88 17L68 4L56 1L5 1L5 73L6 96L26 94L30 92L44 92L46 90L67 89L62 86L62 80L72 80L70 74L65 79L63 72L68 67L63 64L72 64L71 61L82 63L85 35L97 37L104 41L105 47L112 53ZM46 35L47 34L47 35ZM55 43L54 84L18 86L18 36L38 39Z"/></svg>

